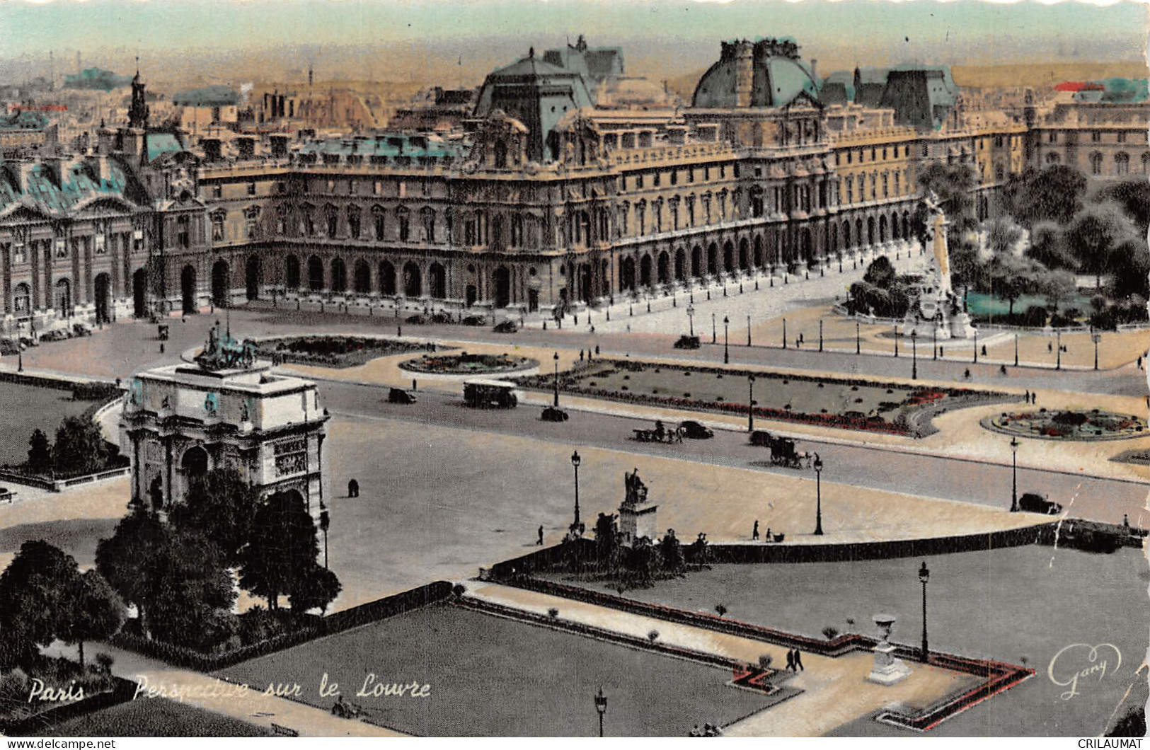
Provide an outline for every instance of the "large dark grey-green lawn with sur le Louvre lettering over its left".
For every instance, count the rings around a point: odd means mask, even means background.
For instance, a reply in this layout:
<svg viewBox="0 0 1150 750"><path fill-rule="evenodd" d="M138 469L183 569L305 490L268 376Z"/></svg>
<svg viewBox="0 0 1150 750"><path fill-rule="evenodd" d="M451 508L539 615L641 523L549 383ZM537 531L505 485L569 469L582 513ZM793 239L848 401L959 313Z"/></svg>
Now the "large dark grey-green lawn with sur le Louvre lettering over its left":
<svg viewBox="0 0 1150 750"><path fill-rule="evenodd" d="M452 606L431 606L224 669L251 684L298 682L319 696L323 674L371 720L430 736L591 736L601 687L611 736L687 736L769 703L726 684L726 669L603 643ZM430 686L428 697L356 697L381 683Z"/></svg>

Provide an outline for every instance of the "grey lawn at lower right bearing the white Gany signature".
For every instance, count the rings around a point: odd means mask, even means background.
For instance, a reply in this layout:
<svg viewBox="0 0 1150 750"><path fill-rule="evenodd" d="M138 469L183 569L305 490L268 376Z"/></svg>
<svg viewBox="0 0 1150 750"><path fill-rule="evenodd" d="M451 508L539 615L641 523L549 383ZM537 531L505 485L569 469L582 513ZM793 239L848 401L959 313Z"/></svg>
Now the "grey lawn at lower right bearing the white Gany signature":
<svg viewBox="0 0 1150 750"><path fill-rule="evenodd" d="M1091 554L1048 546L965 552L927 558L928 635L933 650L1028 664L1037 675L943 722L931 735L1097 736L1134 679L1147 650L1150 580L1141 551ZM872 617L898 615L894 641L917 644L922 632L920 559L802 565L720 565L685 579L661 581L626 596L691 611L728 607L727 617L820 637L825 627L876 633ZM577 584L575 581L564 583ZM603 590L600 588L600 590ZM612 591L613 592L613 591ZM853 625L846 622L854 620ZM1109 672L1068 687L1046 674L1072 644L1111 643L1098 657ZM1089 649L1055 664L1065 681L1087 668ZM1143 678L1144 680L1144 678ZM838 736L907 736L869 719L841 727Z"/></svg>

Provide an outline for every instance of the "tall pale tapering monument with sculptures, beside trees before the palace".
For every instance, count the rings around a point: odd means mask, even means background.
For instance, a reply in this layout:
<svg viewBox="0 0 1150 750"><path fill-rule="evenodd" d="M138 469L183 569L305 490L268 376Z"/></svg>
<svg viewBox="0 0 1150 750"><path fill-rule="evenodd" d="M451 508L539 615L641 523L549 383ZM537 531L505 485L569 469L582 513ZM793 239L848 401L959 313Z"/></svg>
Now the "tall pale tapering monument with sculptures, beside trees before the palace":
<svg viewBox="0 0 1150 750"><path fill-rule="evenodd" d="M946 215L938 197L930 192L923 199L928 216L920 242L930 252L930 265L922 282L911 294L911 306L903 321L903 336L915 335L931 340L972 338L971 316L954 293L950 275L950 252L946 247Z"/></svg>

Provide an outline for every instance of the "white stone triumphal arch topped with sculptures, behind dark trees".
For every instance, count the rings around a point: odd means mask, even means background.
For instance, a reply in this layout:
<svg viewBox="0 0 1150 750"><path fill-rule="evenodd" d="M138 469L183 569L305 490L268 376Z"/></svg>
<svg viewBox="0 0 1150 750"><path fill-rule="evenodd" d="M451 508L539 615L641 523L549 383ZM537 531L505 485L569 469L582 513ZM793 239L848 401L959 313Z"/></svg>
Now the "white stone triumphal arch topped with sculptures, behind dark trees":
<svg viewBox="0 0 1150 750"><path fill-rule="evenodd" d="M315 383L273 374L255 351L216 322L192 362L132 377L120 449L131 461L133 504L167 512L194 477L229 466L261 498L297 492L319 518L328 413Z"/></svg>

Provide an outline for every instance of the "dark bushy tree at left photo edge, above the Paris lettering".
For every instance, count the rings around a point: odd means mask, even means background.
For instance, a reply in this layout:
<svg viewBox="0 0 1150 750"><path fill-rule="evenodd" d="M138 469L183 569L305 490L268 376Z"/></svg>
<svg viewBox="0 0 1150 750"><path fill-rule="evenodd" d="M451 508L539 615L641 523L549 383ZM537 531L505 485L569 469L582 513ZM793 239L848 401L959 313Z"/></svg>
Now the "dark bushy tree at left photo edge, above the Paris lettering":
<svg viewBox="0 0 1150 750"><path fill-rule="evenodd" d="M79 568L70 554L43 539L20 546L0 574L0 640L6 664L28 667L70 617L70 591Z"/></svg>

